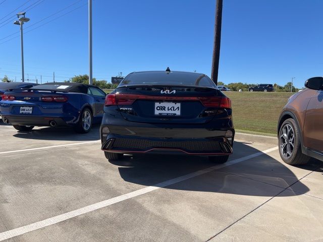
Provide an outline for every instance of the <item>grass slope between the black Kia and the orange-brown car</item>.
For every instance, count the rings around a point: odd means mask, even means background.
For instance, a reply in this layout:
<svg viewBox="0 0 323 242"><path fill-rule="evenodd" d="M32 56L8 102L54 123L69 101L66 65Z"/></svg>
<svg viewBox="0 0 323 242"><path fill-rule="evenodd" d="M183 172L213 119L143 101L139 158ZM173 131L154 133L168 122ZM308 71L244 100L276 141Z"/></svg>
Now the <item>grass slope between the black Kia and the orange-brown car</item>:
<svg viewBox="0 0 323 242"><path fill-rule="evenodd" d="M287 92L225 92L232 101L236 131L275 136L278 117L287 99Z"/></svg>

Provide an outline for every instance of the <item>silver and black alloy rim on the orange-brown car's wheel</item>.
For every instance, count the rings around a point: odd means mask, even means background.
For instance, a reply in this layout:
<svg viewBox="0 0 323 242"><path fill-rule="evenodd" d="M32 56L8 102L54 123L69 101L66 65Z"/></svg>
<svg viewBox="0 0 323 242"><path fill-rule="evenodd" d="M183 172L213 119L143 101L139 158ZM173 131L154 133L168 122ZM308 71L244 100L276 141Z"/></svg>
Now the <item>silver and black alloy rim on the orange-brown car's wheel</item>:
<svg viewBox="0 0 323 242"><path fill-rule="evenodd" d="M284 158L292 156L294 150L294 130L291 125L286 124L281 131L280 149Z"/></svg>

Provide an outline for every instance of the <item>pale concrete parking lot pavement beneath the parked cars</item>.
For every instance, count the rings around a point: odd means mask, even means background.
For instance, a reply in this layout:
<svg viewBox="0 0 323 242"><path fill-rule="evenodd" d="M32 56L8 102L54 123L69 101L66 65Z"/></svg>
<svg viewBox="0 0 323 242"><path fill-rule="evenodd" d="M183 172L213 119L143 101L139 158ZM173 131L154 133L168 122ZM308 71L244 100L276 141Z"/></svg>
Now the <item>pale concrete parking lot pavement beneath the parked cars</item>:
<svg viewBox="0 0 323 242"><path fill-rule="evenodd" d="M286 165L274 144L109 162L98 126L0 136L0 240L323 241L323 163Z"/></svg>

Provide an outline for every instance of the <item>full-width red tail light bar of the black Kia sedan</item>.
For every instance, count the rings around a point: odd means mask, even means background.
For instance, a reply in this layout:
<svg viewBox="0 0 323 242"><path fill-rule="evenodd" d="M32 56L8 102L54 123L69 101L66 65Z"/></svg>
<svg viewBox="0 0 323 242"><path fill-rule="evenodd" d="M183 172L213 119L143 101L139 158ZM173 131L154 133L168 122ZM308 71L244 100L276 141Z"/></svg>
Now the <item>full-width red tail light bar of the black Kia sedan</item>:
<svg viewBox="0 0 323 242"><path fill-rule="evenodd" d="M154 101L200 101L205 107L231 108L231 100L228 97L181 97L181 96L149 96L137 94L111 93L105 97L105 106L131 105L135 100Z"/></svg>

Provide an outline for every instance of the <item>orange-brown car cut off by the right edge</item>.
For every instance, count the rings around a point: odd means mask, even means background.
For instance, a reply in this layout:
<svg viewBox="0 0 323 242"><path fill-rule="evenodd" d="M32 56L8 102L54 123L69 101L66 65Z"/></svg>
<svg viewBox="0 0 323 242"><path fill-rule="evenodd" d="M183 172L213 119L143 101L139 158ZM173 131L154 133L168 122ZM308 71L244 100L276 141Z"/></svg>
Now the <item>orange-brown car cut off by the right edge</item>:
<svg viewBox="0 0 323 242"><path fill-rule="evenodd" d="M323 78L313 77L291 96L278 121L279 153L291 165L323 161Z"/></svg>

